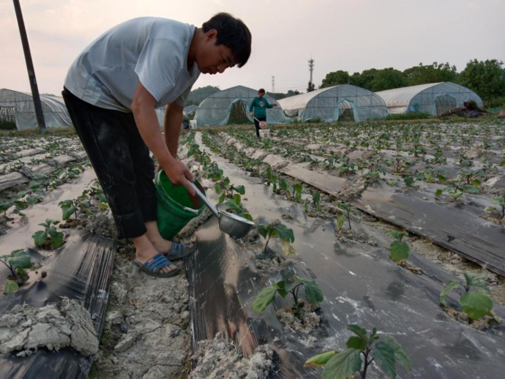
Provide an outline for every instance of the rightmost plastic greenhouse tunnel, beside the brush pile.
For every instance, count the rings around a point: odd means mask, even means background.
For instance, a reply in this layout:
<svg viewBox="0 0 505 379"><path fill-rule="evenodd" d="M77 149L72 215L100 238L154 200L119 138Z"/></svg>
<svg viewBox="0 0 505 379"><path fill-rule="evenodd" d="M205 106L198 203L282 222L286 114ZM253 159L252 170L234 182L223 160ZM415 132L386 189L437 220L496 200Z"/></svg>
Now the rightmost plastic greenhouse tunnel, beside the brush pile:
<svg viewBox="0 0 505 379"><path fill-rule="evenodd" d="M483 107L482 99L477 93L463 85L449 81L413 85L376 92L391 114L396 113L429 113L437 115L473 100Z"/></svg>

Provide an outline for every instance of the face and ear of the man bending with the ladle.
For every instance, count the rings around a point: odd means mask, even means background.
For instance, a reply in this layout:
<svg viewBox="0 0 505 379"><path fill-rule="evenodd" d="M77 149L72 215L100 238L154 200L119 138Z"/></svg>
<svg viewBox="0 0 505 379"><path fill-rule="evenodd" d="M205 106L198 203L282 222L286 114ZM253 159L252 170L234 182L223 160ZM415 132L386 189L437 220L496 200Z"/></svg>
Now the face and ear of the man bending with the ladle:
<svg viewBox="0 0 505 379"><path fill-rule="evenodd" d="M217 31L209 30L205 41L196 55L198 70L203 74L223 73L227 68L235 66L235 60L230 48L221 44L216 45Z"/></svg>

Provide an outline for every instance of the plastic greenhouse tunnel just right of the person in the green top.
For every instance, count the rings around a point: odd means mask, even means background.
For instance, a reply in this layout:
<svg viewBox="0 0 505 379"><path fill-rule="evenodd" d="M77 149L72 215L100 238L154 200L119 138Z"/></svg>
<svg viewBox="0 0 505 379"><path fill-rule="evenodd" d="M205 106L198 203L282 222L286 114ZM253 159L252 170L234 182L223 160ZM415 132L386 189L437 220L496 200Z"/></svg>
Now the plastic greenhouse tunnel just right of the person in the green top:
<svg viewBox="0 0 505 379"><path fill-rule="evenodd" d="M279 100L288 117L300 121L364 121L388 115L384 100L368 89L351 84L321 88Z"/></svg>

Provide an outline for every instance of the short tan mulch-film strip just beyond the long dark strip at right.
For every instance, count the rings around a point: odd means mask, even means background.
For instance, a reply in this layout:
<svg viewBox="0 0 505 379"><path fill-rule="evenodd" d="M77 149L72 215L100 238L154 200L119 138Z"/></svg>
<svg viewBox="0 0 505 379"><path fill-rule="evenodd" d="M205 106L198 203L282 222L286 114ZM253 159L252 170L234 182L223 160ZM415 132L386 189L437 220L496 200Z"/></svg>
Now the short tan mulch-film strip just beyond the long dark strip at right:
<svg viewBox="0 0 505 379"><path fill-rule="evenodd" d="M347 181L345 178L308 170L304 166L302 163L290 164L279 171L333 196L338 195Z"/></svg>

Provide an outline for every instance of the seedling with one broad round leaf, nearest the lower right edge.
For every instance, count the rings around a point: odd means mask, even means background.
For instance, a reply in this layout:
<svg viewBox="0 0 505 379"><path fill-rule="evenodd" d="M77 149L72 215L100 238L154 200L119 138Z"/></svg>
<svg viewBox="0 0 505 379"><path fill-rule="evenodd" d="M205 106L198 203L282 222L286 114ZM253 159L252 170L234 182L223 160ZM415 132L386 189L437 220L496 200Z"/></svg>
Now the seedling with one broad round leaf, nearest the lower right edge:
<svg viewBox="0 0 505 379"><path fill-rule="evenodd" d="M484 316L491 316L499 322L499 318L491 311L493 302L487 295L482 293L491 292L489 287L485 285L485 280L485 274L474 274L471 272L465 272L465 284L458 279L450 279L440 293L440 303L443 306L447 306L445 297L453 290L463 286L465 294L463 294L459 300L463 312L472 320Z"/></svg>

